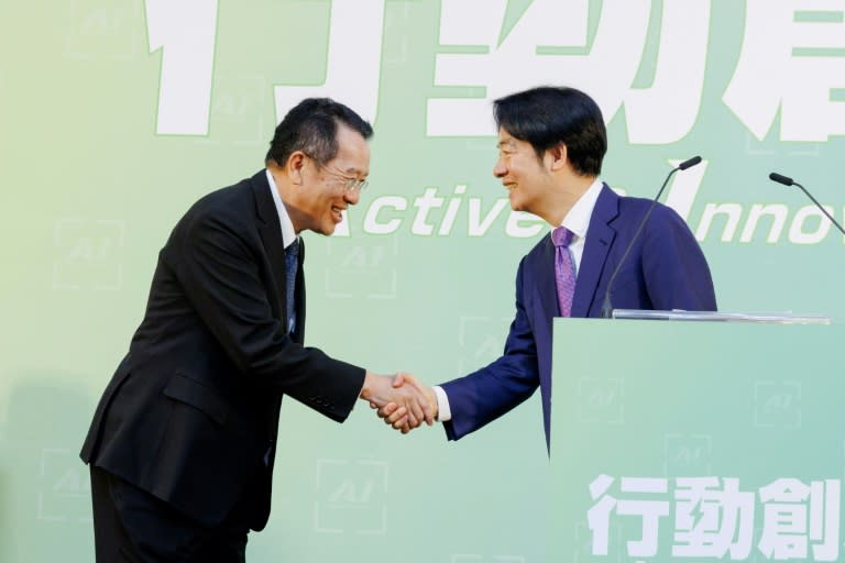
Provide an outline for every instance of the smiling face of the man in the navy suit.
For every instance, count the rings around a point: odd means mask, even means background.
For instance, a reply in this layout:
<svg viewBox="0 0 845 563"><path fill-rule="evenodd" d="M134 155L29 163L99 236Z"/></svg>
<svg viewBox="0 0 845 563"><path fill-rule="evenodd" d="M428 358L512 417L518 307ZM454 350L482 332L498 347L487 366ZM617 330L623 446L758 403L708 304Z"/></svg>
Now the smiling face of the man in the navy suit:
<svg viewBox="0 0 845 563"><path fill-rule="evenodd" d="M514 211L545 216L542 210L553 180L546 156L538 158L530 143L498 130L498 161L493 175L507 188Z"/></svg>

